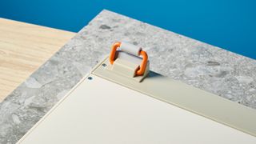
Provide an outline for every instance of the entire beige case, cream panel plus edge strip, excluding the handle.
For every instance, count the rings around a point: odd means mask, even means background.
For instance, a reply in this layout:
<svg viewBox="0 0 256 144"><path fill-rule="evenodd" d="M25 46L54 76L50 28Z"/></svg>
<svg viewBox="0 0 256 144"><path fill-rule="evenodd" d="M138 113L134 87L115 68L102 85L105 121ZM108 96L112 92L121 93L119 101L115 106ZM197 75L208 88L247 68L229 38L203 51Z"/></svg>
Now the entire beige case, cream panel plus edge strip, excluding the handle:
<svg viewBox="0 0 256 144"><path fill-rule="evenodd" d="M255 110L154 72L136 82L102 63L18 143L256 143Z"/></svg>

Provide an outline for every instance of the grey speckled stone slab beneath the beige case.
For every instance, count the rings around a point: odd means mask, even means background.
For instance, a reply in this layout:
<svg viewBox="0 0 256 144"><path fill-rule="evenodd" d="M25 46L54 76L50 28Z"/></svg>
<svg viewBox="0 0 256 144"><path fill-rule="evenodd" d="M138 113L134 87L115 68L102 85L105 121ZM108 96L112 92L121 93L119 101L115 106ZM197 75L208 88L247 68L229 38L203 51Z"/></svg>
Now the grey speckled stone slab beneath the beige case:
<svg viewBox="0 0 256 144"><path fill-rule="evenodd" d="M256 108L255 60L103 10L0 103L0 143L17 142L117 41L142 46L159 74Z"/></svg>

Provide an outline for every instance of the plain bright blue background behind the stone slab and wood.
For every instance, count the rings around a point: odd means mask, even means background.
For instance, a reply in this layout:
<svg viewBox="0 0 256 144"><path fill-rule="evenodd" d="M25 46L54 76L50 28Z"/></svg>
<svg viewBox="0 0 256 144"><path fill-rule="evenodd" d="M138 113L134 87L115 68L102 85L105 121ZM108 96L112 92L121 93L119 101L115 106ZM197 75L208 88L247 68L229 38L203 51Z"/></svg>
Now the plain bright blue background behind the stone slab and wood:
<svg viewBox="0 0 256 144"><path fill-rule="evenodd" d="M0 0L0 17L78 32L102 9L256 59L253 0Z"/></svg>

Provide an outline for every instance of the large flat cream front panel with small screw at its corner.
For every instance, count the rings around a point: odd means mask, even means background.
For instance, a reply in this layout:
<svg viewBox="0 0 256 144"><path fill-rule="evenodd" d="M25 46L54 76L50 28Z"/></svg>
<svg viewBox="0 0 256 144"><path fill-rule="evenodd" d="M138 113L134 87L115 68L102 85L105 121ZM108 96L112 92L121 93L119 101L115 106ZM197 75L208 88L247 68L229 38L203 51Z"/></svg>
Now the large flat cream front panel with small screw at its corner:
<svg viewBox="0 0 256 144"><path fill-rule="evenodd" d="M92 80L84 78L79 82L78 86L75 86L70 94L54 106L54 109L50 110L18 143L256 143L256 138L250 134L94 74L90 74L90 77ZM157 78L158 75L156 81ZM173 86L175 83L170 84ZM173 89L166 91L166 94L177 96Z"/></svg>

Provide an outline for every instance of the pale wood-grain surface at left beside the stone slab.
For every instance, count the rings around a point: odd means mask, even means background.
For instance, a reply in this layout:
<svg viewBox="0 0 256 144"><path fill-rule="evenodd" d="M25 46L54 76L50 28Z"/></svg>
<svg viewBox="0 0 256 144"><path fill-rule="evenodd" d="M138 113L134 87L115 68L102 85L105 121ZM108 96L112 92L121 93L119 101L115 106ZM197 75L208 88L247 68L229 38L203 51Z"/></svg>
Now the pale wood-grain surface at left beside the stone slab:
<svg viewBox="0 0 256 144"><path fill-rule="evenodd" d="M74 34L0 18L0 102Z"/></svg>

